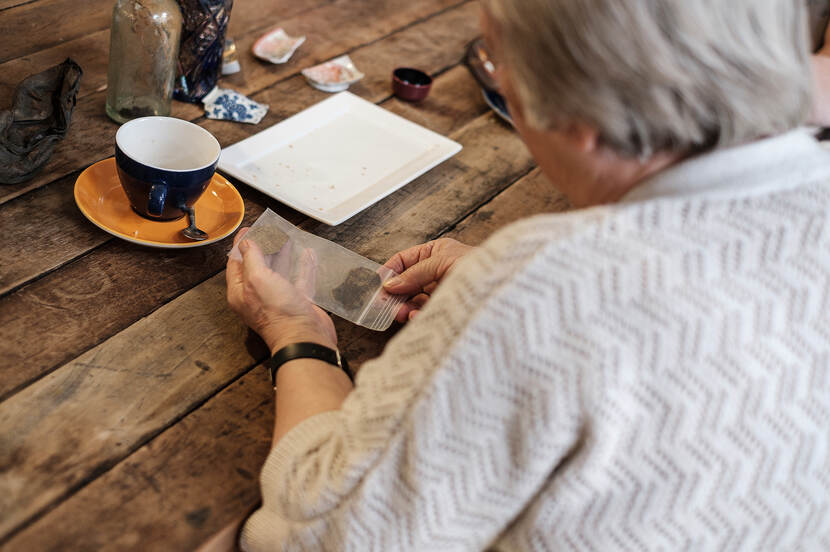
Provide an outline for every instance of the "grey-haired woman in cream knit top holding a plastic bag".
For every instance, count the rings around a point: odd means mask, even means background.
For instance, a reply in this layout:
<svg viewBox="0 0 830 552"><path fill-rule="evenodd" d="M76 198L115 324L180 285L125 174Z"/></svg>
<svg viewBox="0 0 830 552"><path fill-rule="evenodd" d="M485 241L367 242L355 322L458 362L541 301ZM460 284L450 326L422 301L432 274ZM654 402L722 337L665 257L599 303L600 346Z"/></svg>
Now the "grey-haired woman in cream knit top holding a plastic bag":
<svg viewBox="0 0 830 552"><path fill-rule="evenodd" d="M296 352L335 349L330 319L240 242L228 299L279 365L242 547L828 549L805 6L484 6L516 127L579 209L396 255L420 312L354 388Z"/></svg>

